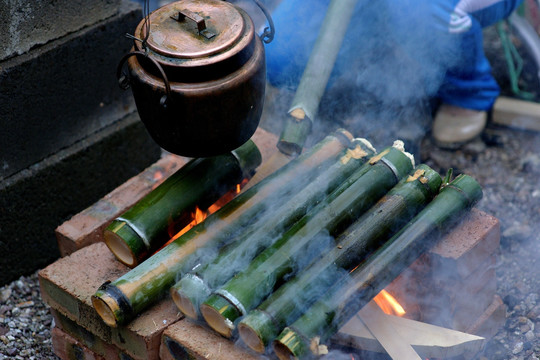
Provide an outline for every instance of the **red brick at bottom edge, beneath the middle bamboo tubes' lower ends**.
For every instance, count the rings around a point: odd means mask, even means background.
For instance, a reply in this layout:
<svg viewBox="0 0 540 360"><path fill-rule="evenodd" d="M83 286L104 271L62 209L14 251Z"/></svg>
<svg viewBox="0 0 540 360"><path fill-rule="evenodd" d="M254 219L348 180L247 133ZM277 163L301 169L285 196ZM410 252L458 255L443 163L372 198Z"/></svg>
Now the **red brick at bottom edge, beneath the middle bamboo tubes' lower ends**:
<svg viewBox="0 0 540 360"><path fill-rule="evenodd" d="M180 320L165 330L160 353L163 356L168 353L173 359L255 360L260 358L214 331L187 319Z"/></svg>

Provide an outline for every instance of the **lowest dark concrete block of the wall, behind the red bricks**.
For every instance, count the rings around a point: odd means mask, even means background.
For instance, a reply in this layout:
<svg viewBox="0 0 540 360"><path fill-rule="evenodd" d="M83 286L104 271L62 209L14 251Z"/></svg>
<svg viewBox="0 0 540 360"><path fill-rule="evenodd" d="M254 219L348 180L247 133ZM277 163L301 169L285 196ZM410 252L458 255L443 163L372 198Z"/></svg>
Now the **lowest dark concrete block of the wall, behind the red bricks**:
<svg viewBox="0 0 540 360"><path fill-rule="evenodd" d="M0 284L56 260L54 229L160 156L138 116L130 114L0 181L0 253L9 254L0 257Z"/></svg>

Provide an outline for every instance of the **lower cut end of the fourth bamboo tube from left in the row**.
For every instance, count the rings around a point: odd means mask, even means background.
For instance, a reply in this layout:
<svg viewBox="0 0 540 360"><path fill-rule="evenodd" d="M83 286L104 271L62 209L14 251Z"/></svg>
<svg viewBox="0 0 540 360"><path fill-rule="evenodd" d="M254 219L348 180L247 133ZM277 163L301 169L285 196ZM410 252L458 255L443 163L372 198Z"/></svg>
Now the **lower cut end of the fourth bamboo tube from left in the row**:
<svg viewBox="0 0 540 360"><path fill-rule="evenodd" d="M258 310L246 315L238 324L238 333L242 341L261 354L278 335L278 331L270 315Z"/></svg>

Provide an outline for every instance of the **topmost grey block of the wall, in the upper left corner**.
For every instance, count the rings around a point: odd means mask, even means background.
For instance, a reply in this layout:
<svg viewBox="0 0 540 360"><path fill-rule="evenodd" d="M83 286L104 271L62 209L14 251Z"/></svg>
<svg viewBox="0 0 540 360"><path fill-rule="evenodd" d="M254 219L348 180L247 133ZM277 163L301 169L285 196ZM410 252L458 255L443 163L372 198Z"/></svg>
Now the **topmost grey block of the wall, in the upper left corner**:
<svg viewBox="0 0 540 360"><path fill-rule="evenodd" d="M113 16L120 0L14 0L0 3L0 60Z"/></svg>

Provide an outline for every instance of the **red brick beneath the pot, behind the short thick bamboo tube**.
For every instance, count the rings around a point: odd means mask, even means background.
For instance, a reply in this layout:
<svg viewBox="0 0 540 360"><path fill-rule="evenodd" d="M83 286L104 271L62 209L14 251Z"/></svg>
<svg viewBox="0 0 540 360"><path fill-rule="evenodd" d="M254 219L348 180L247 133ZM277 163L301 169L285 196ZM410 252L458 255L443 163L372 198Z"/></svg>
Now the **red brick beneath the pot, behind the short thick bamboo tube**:
<svg viewBox="0 0 540 360"><path fill-rule="evenodd" d="M135 205L188 160L176 155L164 156L94 205L64 222L55 231L60 254L67 256L85 246L103 241L103 230L112 219Z"/></svg>

